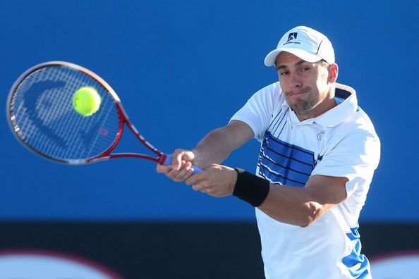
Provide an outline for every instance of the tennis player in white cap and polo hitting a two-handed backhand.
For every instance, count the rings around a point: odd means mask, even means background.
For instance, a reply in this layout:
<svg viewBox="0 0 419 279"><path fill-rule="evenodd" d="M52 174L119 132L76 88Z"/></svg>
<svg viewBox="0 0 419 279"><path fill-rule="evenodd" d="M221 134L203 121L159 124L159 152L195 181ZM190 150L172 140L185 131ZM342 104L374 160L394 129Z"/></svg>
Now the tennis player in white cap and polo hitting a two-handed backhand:
<svg viewBox="0 0 419 279"><path fill-rule="evenodd" d="M320 32L289 30L265 65L279 82L157 171L255 206L267 279L371 278L358 216L379 163L374 126L355 90L336 83L334 49ZM261 143L256 175L219 165L253 137ZM191 175L193 164L204 172Z"/></svg>

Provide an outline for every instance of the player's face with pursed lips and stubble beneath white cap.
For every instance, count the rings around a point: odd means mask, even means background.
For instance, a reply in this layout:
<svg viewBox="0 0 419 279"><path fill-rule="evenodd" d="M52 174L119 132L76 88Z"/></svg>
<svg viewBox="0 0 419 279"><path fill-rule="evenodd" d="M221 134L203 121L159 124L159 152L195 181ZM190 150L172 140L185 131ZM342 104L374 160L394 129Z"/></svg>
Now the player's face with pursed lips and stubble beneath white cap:
<svg viewBox="0 0 419 279"><path fill-rule="evenodd" d="M284 51L277 57L282 92L300 120L320 116L335 105L329 67L324 64L303 61Z"/></svg>

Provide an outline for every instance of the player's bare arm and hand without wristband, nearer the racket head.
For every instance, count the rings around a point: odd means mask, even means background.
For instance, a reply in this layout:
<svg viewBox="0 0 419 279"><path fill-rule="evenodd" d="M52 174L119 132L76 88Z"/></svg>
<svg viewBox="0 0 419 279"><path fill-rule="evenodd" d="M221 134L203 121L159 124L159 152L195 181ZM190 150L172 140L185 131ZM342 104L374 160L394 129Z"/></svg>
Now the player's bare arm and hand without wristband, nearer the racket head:
<svg viewBox="0 0 419 279"><path fill-rule="evenodd" d="M221 163L231 151L253 137L254 132L248 124L240 120L231 120L228 125L209 132L194 149L176 149L172 154L172 165L157 165L157 172L166 173L175 181L186 180L192 174L192 165L205 168L212 163Z"/></svg>

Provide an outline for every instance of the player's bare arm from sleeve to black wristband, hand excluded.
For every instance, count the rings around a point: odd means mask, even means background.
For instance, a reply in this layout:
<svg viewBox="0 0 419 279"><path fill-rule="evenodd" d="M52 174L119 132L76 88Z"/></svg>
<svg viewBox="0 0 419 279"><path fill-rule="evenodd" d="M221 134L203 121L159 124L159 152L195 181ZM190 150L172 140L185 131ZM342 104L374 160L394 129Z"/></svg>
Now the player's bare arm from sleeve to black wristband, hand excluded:
<svg viewBox="0 0 419 279"><path fill-rule="evenodd" d="M236 170L233 195L271 218L306 227L347 197L348 178L311 175L305 187L274 185L243 170Z"/></svg>

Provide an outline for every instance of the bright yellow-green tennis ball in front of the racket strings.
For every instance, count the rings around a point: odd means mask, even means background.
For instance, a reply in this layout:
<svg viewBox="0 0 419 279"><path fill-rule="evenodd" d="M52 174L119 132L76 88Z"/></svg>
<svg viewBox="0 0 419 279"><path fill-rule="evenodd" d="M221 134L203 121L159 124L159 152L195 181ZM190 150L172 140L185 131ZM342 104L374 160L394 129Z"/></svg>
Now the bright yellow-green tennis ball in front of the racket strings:
<svg viewBox="0 0 419 279"><path fill-rule="evenodd" d="M73 94L73 108L82 116L91 116L99 110L100 96L93 87L81 87Z"/></svg>

